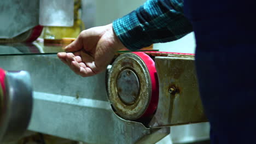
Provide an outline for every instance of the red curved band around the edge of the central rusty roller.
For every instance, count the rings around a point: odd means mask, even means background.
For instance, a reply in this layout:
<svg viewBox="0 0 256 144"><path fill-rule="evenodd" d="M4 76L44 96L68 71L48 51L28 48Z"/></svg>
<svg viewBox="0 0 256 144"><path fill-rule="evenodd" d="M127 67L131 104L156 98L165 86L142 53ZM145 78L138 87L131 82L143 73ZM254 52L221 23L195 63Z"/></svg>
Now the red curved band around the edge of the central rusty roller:
<svg viewBox="0 0 256 144"><path fill-rule="evenodd" d="M150 79L151 79L151 84L152 84L151 99L149 101L147 110L140 117L140 118L146 118L150 115L153 115L153 113L158 107L158 100L159 100L158 75L155 69L155 62L153 61L152 58L150 58L146 53L143 53L143 52L132 52L132 53L135 53L137 56L139 56L143 60L143 62L146 64L149 71Z"/></svg>

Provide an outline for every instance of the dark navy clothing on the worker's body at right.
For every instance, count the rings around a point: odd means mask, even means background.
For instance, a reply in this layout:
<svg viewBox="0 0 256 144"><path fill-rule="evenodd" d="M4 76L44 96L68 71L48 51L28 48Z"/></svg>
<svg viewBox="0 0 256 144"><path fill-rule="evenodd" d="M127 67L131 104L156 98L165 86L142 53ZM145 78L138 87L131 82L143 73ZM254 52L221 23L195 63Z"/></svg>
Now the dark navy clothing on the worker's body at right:
<svg viewBox="0 0 256 144"><path fill-rule="evenodd" d="M212 143L256 143L255 6L255 1L184 1Z"/></svg>

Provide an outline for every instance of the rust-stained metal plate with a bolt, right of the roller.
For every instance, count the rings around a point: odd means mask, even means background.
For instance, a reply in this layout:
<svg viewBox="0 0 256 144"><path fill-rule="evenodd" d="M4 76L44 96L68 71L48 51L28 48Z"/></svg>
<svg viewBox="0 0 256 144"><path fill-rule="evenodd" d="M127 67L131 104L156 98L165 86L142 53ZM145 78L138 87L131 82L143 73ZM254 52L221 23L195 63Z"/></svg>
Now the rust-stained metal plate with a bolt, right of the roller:
<svg viewBox="0 0 256 144"><path fill-rule="evenodd" d="M194 58L155 57L155 66L159 77L159 104L150 127L206 122Z"/></svg>

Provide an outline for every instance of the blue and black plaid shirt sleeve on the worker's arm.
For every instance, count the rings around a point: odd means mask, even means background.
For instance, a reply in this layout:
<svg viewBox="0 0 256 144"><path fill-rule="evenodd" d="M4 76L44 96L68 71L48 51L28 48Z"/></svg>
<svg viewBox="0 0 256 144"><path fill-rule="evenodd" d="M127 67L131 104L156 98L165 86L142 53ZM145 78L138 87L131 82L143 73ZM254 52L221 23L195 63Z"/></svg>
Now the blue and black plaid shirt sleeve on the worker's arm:
<svg viewBox="0 0 256 144"><path fill-rule="evenodd" d="M130 50L177 40L193 31L183 14L183 0L148 0L113 22L118 38Z"/></svg>

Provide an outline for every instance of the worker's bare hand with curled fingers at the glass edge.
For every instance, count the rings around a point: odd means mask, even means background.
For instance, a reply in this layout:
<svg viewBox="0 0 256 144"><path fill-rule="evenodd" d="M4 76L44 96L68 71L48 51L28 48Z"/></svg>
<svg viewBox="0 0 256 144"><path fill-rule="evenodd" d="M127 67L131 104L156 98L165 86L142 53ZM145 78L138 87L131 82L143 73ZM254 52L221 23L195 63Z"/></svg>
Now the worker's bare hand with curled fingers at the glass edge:
<svg viewBox="0 0 256 144"><path fill-rule="evenodd" d="M114 53L124 45L113 31L112 24L81 32L65 51L57 56L76 74L83 77L100 73L112 61ZM72 53L73 52L73 53Z"/></svg>

